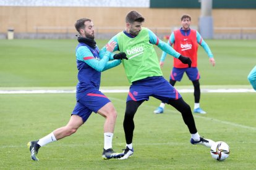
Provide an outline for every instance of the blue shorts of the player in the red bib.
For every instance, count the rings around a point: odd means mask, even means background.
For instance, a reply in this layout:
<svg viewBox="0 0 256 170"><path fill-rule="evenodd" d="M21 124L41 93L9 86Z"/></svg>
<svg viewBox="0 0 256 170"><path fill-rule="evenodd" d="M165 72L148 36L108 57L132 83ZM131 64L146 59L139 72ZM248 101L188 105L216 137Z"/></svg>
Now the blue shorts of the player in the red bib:
<svg viewBox="0 0 256 170"><path fill-rule="evenodd" d="M170 75L170 80L176 80L176 81L181 81L182 76L186 72L187 76L191 81L200 79L200 74L197 69L197 67L191 67L191 68L173 68L171 70L171 75Z"/></svg>

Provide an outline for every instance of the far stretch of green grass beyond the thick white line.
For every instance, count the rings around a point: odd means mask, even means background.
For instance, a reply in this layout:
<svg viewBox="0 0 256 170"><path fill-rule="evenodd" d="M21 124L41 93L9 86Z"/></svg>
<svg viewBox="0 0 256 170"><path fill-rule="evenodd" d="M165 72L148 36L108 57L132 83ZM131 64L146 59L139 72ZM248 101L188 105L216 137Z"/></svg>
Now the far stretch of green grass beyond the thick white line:
<svg viewBox="0 0 256 170"><path fill-rule="evenodd" d="M107 41L97 41L102 47ZM211 67L207 54L200 47L198 69L203 85L245 85L247 75L256 63L255 40L207 40L215 55L216 67ZM75 46L77 41L0 39L0 87L58 87L77 84ZM161 51L156 47L158 56ZM169 79L173 57L168 55L163 74ZM118 77L118 79L116 78ZM181 83L190 85L184 76ZM103 72L101 86L128 86L122 65Z"/></svg>

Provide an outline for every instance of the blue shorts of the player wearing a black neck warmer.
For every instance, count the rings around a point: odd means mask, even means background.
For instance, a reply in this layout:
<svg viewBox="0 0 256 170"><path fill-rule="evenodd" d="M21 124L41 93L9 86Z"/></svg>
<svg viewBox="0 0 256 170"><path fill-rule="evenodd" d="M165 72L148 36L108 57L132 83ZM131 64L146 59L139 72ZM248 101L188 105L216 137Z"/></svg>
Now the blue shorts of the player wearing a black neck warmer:
<svg viewBox="0 0 256 170"><path fill-rule="evenodd" d="M96 89L85 92L85 94L79 92L77 95L79 95L79 100L77 100L71 115L80 116L83 119L83 123L87 121L93 111L97 113L106 103L111 102L106 95Z"/></svg>

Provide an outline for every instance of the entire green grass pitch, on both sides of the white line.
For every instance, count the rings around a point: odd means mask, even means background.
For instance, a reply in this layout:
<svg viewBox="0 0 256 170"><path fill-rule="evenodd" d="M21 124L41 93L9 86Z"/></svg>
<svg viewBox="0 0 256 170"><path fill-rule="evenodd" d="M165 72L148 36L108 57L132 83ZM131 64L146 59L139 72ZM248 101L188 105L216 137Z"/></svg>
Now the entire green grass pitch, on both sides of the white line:
<svg viewBox="0 0 256 170"><path fill-rule="evenodd" d="M208 40L216 67L199 50L203 87L246 87L247 75L256 63L252 40ZM77 83L75 40L0 40L0 90L74 87ZM106 41L98 41L103 46ZM158 51L158 55L161 54ZM168 79L171 57L163 73ZM128 86L122 66L102 75L102 86ZM184 81L177 88L191 86ZM107 93L118 112L113 147L125 147L122 120L126 93ZM192 93L182 97L194 105ZM26 146L64 126L75 105L75 94L0 94L0 169L255 169L256 93L202 93L206 115L194 115L200 135L229 144L227 160L213 160L210 149L189 143L190 134L180 113L166 106L164 114L153 110L151 98L135 115L134 155L128 160L101 159L104 118L93 114L79 131L40 148L40 161L30 160Z"/></svg>

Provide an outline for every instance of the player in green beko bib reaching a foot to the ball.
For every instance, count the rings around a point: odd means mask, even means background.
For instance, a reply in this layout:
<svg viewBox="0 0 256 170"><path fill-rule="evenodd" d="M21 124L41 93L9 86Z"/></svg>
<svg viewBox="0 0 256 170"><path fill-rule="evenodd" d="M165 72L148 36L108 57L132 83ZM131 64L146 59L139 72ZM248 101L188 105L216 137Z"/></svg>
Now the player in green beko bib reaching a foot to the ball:
<svg viewBox="0 0 256 170"><path fill-rule="evenodd" d="M166 42L161 41L148 28L142 27L144 18L137 11L132 10L126 15L126 30L116 34L109 42L115 41L117 46L114 51L126 52L129 60L122 60L130 83L129 94L126 99L126 112L124 115L124 132L126 137L126 149L121 160L133 155L132 139L134 134L134 115L139 106L150 96L168 103L181 112L184 123L189 128L190 143L211 147L213 140L203 139L197 132L194 117L189 105L184 102L181 95L171 84L163 78L158 57L153 45L173 55L182 63L190 67L189 57L176 52ZM106 49L103 47L103 49ZM145 120L152 121L152 120Z"/></svg>

